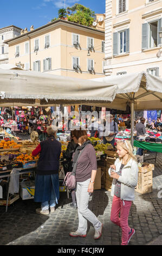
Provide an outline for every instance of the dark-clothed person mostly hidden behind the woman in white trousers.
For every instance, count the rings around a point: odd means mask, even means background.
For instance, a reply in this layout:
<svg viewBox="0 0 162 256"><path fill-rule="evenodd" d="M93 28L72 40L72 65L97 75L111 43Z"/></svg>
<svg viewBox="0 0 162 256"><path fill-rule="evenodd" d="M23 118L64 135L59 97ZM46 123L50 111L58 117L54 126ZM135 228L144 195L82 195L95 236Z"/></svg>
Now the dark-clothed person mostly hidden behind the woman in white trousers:
<svg viewBox="0 0 162 256"><path fill-rule="evenodd" d="M67 150L63 150L63 158L66 159L66 161L63 162L63 169L64 169L64 175L67 174L67 172L72 172L72 156L75 152L75 149L77 148L78 144L74 143L74 139L72 138L72 132L70 133L71 141L68 143ZM72 204L70 204L71 207L77 208L76 204L76 196L75 196L75 189L71 190L72 194Z"/></svg>

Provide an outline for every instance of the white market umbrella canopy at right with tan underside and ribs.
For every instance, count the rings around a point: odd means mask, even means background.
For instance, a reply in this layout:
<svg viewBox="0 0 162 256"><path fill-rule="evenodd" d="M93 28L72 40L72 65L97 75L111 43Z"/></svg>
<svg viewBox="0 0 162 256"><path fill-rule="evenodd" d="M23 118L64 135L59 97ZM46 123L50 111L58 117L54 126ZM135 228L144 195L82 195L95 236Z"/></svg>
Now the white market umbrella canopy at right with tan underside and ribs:
<svg viewBox="0 0 162 256"><path fill-rule="evenodd" d="M93 81L118 86L114 101L104 105L105 107L125 111L127 105L134 101L134 110L162 108L162 79L160 77L141 72L96 78Z"/></svg>

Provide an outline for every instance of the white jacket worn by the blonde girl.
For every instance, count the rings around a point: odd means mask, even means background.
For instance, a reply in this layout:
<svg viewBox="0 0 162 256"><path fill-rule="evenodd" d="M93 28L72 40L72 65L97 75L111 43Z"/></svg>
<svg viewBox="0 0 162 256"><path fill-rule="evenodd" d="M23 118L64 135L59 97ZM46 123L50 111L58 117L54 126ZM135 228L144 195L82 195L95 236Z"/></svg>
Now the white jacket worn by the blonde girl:
<svg viewBox="0 0 162 256"><path fill-rule="evenodd" d="M115 172L118 173L121 166L121 160L119 158L116 159L114 164L116 167ZM122 168L121 176L118 179L118 181L121 182L121 200L134 200L134 188L137 186L138 183L138 170L138 163L133 159L130 159L127 164ZM109 176L111 176L111 168L108 169L108 174ZM112 184L111 196L114 196L114 187L115 185Z"/></svg>

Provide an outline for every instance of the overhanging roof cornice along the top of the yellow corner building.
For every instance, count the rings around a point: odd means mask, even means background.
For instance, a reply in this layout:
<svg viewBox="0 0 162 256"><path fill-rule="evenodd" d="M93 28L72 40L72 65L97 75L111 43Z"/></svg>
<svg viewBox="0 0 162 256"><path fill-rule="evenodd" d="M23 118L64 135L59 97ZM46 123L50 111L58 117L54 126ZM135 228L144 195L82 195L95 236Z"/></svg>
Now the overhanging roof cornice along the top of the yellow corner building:
<svg viewBox="0 0 162 256"><path fill-rule="evenodd" d="M35 35L39 34L40 32L47 31L47 29L55 28L56 26L60 26L60 25L67 26L67 27L73 27L73 28L77 27L77 29L81 29L82 31L86 30L88 32L90 31L95 34L105 35L105 32L100 31L99 29L94 29L91 27L83 26L83 25L80 25L80 24L77 24L74 22L70 22L70 21L56 20L56 21L49 22L48 24L46 24L42 27L36 28L36 29L34 29L34 31L30 31L23 35L16 36L16 38L6 40L6 41L4 41L4 43L11 44L12 42L18 42L20 40L23 40L25 38L25 36L35 36Z"/></svg>

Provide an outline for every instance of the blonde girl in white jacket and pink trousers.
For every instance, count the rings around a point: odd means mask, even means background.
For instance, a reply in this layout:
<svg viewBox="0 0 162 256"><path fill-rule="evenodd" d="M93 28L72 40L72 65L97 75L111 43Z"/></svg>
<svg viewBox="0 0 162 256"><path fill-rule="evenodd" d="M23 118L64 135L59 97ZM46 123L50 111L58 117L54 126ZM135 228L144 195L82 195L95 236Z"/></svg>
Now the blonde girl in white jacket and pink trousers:
<svg viewBox="0 0 162 256"><path fill-rule="evenodd" d="M128 216L134 200L134 188L138 183L138 163L129 141L124 139L118 141L117 149L119 158L108 170L113 178L111 221L122 229L121 245L128 245L135 233L135 230L128 225Z"/></svg>

